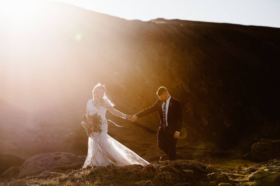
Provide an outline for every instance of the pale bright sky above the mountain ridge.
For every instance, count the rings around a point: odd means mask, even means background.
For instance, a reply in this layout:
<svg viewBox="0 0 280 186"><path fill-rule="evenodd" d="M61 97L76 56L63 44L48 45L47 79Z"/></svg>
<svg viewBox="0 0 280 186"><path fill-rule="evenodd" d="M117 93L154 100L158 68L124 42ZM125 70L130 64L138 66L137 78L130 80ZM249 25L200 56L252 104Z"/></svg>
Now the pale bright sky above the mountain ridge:
<svg viewBox="0 0 280 186"><path fill-rule="evenodd" d="M280 28L280 0L53 0L127 20L182 19Z"/></svg>

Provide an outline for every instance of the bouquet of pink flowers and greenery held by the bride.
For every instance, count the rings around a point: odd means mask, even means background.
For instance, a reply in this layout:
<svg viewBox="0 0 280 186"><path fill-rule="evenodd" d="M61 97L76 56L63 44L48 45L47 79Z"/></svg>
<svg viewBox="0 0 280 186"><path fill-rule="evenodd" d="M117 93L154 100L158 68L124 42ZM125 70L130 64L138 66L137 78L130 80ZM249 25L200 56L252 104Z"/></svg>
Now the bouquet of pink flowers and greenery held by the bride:
<svg viewBox="0 0 280 186"><path fill-rule="evenodd" d="M85 128L85 131L87 132L88 136L90 136L91 132L102 132L102 119L101 116L99 116L97 113L93 115L84 116L81 124Z"/></svg>

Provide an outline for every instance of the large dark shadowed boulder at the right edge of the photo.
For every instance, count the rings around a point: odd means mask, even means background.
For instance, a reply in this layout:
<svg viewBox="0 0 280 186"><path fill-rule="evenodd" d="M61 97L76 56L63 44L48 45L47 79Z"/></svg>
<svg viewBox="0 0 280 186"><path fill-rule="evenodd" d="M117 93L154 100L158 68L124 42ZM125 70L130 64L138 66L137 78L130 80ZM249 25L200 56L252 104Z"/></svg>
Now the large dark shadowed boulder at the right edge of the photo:
<svg viewBox="0 0 280 186"><path fill-rule="evenodd" d="M251 157L258 161L280 158L280 140L261 139L252 145Z"/></svg>

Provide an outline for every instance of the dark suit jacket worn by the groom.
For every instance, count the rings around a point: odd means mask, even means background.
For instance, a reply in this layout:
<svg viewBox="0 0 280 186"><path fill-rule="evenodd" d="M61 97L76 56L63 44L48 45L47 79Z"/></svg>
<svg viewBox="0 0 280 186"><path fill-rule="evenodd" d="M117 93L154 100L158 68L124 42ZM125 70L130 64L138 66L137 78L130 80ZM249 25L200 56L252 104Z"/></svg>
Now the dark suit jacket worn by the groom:
<svg viewBox="0 0 280 186"><path fill-rule="evenodd" d="M147 108L139 113L137 113L137 117L141 118L143 116L149 115L153 112L157 111L158 115L160 117L160 129L163 127L163 111L162 111L162 101L160 99L155 102L150 108ZM167 133L170 135L174 135L175 131L180 132L180 136L182 135L181 133L181 127L183 123L182 119L182 106L181 102L177 99L174 99L173 97L170 98L169 101L169 106L168 106L168 112L167 112Z"/></svg>

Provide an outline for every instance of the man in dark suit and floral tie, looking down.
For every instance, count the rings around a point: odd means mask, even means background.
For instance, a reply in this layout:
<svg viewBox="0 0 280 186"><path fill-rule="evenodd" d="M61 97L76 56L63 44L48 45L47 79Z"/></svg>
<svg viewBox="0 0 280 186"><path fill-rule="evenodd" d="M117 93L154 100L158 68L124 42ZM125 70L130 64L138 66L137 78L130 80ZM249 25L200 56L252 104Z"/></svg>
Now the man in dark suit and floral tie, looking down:
<svg viewBox="0 0 280 186"><path fill-rule="evenodd" d="M151 107L129 117L130 121L149 115L155 111L160 117L160 128L157 132L157 146L164 151L169 160L176 158L176 142L181 136L182 106L181 102L171 97L165 87L157 90L159 99Z"/></svg>

